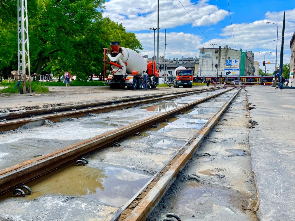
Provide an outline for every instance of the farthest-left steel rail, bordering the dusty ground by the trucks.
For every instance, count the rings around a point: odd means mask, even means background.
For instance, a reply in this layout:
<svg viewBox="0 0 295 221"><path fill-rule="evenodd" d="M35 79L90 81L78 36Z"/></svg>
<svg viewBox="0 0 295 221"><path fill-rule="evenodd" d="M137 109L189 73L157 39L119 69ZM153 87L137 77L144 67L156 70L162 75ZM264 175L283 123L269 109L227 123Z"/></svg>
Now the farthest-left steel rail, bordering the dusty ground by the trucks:
<svg viewBox="0 0 295 221"><path fill-rule="evenodd" d="M223 88L223 87L221 87ZM127 97L127 98L118 98L118 99L112 99L112 100L103 100L103 101L96 101L96 102L88 102L88 103L81 103L81 104L71 104L71 105L63 105L63 106L57 106L57 107L50 107L50 108L39 108L39 109L32 109L32 110L22 110L22 111L14 111L9 113L0 113L0 119L15 119L30 115L37 115L37 114L45 114L45 113L53 113L56 111L61 110L72 110L72 109L81 109L81 108L87 108L87 107L95 107L98 105L108 105L111 103L119 103L119 102L127 102L137 99L148 99L153 98L157 96L165 96L165 95L173 95L173 94L188 94L191 92L206 92L206 91L212 91L216 90L216 88L213 89L196 89L196 90L188 90L188 91L177 91L173 93L157 93L153 95L141 95L141 96L133 96L133 97Z"/></svg>

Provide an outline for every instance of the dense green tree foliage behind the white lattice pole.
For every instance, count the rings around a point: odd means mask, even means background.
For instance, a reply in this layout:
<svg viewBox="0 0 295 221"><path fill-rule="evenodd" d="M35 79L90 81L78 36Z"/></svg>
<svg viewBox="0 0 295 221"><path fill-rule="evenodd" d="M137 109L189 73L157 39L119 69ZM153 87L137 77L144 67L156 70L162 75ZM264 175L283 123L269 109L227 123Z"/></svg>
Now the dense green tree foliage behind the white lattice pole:
<svg viewBox="0 0 295 221"><path fill-rule="evenodd" d="M142 50L134 33L103 17L104 0L28 0L31 70L86 79L103 70L110 41ZM0 72L17 70L17 1L0 0Z"/></svg>

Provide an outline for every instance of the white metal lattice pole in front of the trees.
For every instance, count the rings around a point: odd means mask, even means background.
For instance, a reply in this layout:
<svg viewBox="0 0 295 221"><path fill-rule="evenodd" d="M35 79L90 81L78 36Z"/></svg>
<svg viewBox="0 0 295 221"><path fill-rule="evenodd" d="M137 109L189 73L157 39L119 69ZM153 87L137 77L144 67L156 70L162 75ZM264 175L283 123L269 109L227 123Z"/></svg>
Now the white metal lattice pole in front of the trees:
<svg viewBox="0 0 295 221"><path fill-rule="evenodd" d="M19 81L23 80L23 93L27 93L26 88L26 68L29 69L29 89L31 88L31 73L30 73L30 53L29 53L29 28L28 28L28 12L27 12L27 0L17 0L17 75ZM26 59L27 58L27 59ZM26 62L26 60L28 62ZM20 74L22 70L22 74Z"/></svg>

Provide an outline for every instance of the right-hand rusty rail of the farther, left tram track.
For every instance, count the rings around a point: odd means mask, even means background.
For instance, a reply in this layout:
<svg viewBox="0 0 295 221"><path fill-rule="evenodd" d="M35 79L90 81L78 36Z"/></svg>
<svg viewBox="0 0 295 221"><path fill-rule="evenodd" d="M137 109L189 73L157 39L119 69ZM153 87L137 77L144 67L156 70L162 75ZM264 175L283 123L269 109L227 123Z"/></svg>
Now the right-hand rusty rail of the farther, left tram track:
<svg viewBox="0 0 295 221"><path fill-rule="evenodd" d="M118 110L118 109L122 109L122 108L129 108L129 107L139 105L139 104L146 104L146 103L156 102L156 101L165 100L165 99L178 98L178 97L188 96L188 95L196 94L196 93L206 93L206 92L214 91L214 90L220 90L220 88L213 88L213 89L209 89L209 90L197 90L197 91L192 91L192 92L188 92L188 93L176 93L173 95L167 94L167 96L162 94L162 95L159 95L157 98L153 98L153 97L155 97L155 95L148 95L148 96L143 96L143 97L136 97L136 98L141 98L141 99L146 98L146 100L137 100L136 99L137 101L129 100L129 102L125 102L125 103L124 103L124 101L128 101L128 99L130 99L130 98L122 98L122 99L117 99L118 100L117 102L120 102L119 104L113 104L113 105L111 104L111 105L107 105L107 106L103 105L103 107L85 108L85 109L80 109L80 110L63 111L63 112L57 113L57 114L43 114L43 115L35 116L34 118L20 118L17 120L9 120L9 121L0 123L0 132L14 130L14 129L17 129L19 127L26 125L27 123L36 122L36 121L43 121L45 119L49 119L50 121L53 121L53 122L59 122L59 121L62 121L66 118L69 118L69 117L78 118L78 117L86 116L89 113L101 113L101 112L106 113L108 111ZM113 102L114 102L114 100L111 102L108 101L107 103L110 104ZM96 102L96 103L98 103L98 102ZM100 103L100 105L101 105L101 103ZM45 109L47 109L47 108L45 108ZM40 110L40 109L35 109L35 110ZM17 112L16 112L16 114L17 114ZM17 116L17 115L14 115L14 116Z"/></svg>

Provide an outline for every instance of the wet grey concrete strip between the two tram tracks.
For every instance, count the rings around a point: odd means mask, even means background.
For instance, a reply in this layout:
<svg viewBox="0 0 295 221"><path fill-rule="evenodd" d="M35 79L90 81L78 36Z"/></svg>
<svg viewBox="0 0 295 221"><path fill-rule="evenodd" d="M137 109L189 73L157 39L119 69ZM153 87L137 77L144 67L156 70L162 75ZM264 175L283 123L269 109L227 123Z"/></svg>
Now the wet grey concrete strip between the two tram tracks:
<svg viewBox="0 0 295 221"><path fill-rule="evenodd" d="M16 131L1 132L0 159L3 159L3 163L0 165L0 169L33 159L34 156L44 155L76 144L135 121L155 116L160 112L214 93L218 92L200 93L169 101L164 100L163 102L138 105L135 108L116 110L111 113L90 113L86 117L67 118L63 122L57 123L48 120L37 121L29 123Z"/></svg>

